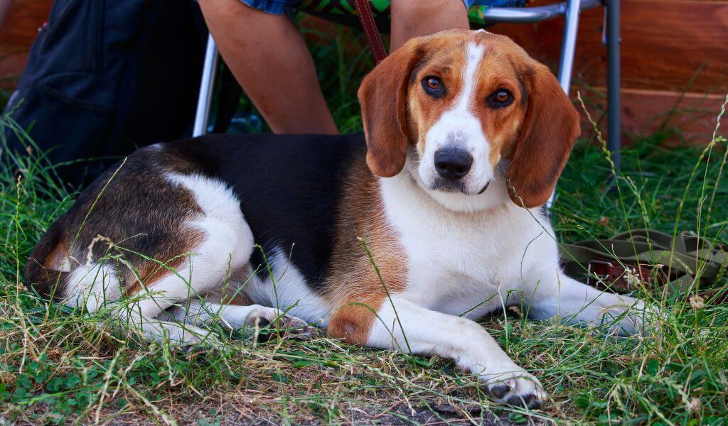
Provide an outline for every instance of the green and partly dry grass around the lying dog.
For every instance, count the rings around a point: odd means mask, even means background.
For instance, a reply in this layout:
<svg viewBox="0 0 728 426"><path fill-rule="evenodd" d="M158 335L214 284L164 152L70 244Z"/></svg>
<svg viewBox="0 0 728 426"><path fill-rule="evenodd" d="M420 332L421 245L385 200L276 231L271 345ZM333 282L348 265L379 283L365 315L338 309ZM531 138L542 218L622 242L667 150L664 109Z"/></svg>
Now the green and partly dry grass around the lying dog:
<svg viewBox="0 0 728 426"><path fill-rule="evenodd" d="M314 56L336 121L342 131L357 130L355 90L371 60L344 59L345 46L361 41L350 31L317 36L331 46L314 49ZM242 108L252 111L247 102ZM1 125L12 122L2 118ZM668 233L700 231L725 244L725 140L716 137L711 150L668 150L660 142L660 134L635 140L622 152L614 180L601 145L580 141L552 210L561 241L647 225ZM222 327L221 349L182 354L113 332L113 318L103 312L49 306L23 286L25 256L74 194L55 185L52 167L37 154L2 155L23 177L0 174L0 423L459 418L477 424L496 414L515 423L529 422L531 415L590 424L727 424L728 306L692 308L686 294L663 300L637 291L664 313L645 337L607 337L518 315L486 318L483 326L550 394L547 406L531 413L492 403L475 379L439 358L369 350L325 336L257 342L251 330ZM711 285L728 282L719 278Z"/></svg>

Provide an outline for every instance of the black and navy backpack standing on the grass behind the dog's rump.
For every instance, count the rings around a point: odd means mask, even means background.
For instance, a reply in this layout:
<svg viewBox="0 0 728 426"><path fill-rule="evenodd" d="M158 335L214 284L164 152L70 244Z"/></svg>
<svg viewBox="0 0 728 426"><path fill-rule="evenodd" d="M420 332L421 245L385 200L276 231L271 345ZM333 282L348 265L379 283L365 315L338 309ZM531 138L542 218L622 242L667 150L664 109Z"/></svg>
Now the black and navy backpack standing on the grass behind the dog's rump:
<svg viewBox="0 0 728 426"><path fill-rule="evenodd" d="M207 30L189 0L55 0L6 111L73 187L138 146L189 136ZM9 148L23 142L6 134Z"/></svg>

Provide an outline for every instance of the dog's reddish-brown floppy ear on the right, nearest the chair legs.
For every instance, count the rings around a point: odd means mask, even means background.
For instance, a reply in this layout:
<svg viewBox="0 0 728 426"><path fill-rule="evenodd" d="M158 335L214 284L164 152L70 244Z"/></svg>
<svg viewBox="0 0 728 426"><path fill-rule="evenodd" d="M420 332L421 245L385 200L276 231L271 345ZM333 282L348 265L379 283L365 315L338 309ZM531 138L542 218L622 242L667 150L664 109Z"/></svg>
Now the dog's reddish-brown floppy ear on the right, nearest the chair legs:
<svg viewBox="0 0 728 426"><path fill-rule="evenodd" d="M507 177L513 202L531 208L551 196L581 130L577 110L545 65L534 62L524 78L528 109Z"/></svg>

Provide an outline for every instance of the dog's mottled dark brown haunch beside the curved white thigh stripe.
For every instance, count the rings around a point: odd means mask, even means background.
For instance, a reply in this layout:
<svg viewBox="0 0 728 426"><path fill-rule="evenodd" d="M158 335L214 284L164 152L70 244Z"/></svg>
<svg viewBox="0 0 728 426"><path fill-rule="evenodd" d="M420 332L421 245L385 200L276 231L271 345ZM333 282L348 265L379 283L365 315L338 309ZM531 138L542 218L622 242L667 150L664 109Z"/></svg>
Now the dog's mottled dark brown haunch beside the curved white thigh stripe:
<svg viewBox="0 0 728 426"><path fill-rule="evenodd" d="M166 173L178 171L191 172L189 161L157 147L138 150L126 162L111 167L33 248L25 268L28 284L44 296L68 296L63 282L68 272L60 272L64 257L71 258L69 266L74 270L87 260L95 263L106 254L122 254L126 264L114 259L103 262L114 268L126 294L142 288L129 265L144 286L167 276L170 268L178 268L186 258L183 254L194 252L205 237L187 225L202 214L193 194L165 178ZM112 249L113 244L122 249ZM167 267L146 257L167 262Z"/></svg>

